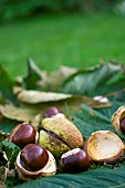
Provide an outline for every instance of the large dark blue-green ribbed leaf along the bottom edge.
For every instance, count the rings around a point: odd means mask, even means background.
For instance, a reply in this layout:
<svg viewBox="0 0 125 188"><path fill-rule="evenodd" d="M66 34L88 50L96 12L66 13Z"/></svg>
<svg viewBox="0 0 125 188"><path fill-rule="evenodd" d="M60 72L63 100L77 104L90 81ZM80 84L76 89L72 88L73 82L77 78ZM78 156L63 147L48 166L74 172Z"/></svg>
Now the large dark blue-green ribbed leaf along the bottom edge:
<svg viewBox="0 0 125 188"><path fill-rule="evenodd" d="M102 169L88 170L81 174L60 174L56 176L24 182L15 186L15 188L115 188L125 187L125 164L118 168L108 169L102 167Z"/></svg>

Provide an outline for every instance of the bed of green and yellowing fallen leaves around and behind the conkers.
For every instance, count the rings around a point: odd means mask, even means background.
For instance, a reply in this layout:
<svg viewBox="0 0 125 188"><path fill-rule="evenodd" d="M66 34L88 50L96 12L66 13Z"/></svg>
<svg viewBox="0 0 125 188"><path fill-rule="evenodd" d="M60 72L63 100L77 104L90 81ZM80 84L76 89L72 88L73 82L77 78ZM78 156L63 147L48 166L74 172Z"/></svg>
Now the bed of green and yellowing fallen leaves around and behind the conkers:
<svg viewBox="0 0 125 188"><path fill-rule="evenodd" d="M30 59L27 73L11 81L0 67L3 82L0 83L0 152L10 157L10 168L13 168L18 149L6 140L12 127L20 122L30 122L38 126L43 118L44 111L50 106L58 106L76 125L87 138L95 130L110 129L112 114L125 104L125 70L118 63L107 62L88 69L75 69L62 66L53 73L41 71ZM107 97L103 103L95 96ZM6 133L3 133L3 129ZM6 135L7 134L7 135ZM125 142L125 137L119 135ZM4 149L3 149L4 147ZM105 168L96 166L86 173L77 175L59 174L52 177L20 182L7 180L7 187L95 187L95 186L124 186L121 174L124 163L117 167ZM116 170L115 170L116 168ZM107 176L106 176L107 175ZM110 176L111 175L111 176ZM93 177L94 176L94 177ZM121 182L113 181L113 176L121 176ZM98 179L100 177L100 179ZM104 178L105 177L105 178ZM116 179L116 178L115 178ZM88 184L92 180L91 184ZM19 185L18 185L19 184Z"/></svg>

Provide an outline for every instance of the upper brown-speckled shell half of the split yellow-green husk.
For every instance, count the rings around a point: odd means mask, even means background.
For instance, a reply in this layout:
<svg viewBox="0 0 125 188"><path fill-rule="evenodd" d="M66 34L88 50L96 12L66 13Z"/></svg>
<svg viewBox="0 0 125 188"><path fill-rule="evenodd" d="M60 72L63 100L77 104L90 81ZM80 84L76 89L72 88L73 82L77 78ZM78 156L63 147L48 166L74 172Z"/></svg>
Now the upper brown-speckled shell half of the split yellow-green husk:
<svg viewBox="0 0 125 188"><path fill-rule="evenodd" d="M43 129L50 130L61 137L71 148L83 147L83 137L76 126L64 114L58 114L51 118L44 118Z"/></svg>

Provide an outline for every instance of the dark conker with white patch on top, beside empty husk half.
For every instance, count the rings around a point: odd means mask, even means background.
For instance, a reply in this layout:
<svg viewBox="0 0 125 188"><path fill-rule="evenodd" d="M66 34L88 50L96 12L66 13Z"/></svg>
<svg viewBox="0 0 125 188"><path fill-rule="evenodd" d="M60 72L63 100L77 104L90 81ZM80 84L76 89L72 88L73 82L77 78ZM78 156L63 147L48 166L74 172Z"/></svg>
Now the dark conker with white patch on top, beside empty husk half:
<svg viewBox="0 0 125 188"><path fill-rule="evenodd" d="M91 158L82 148L74 148L61 156L61 166L65 173L85 171L91 166Z"/></svg>

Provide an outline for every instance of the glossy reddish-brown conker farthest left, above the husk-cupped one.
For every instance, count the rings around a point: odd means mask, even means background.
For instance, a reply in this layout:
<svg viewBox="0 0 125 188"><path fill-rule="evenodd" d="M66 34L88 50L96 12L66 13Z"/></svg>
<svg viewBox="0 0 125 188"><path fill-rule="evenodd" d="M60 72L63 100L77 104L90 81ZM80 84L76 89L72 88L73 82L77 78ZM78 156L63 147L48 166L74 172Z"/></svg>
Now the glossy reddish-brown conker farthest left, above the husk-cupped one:
<svg viewBox="0 0 125 188"><path fill-rule="evenodd" d="M23 148L28 144L35 144L37 128L31 124L18 124L10 135L10 142Z"/></svg>

